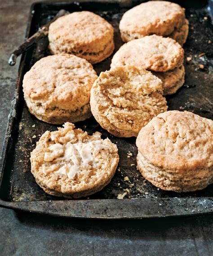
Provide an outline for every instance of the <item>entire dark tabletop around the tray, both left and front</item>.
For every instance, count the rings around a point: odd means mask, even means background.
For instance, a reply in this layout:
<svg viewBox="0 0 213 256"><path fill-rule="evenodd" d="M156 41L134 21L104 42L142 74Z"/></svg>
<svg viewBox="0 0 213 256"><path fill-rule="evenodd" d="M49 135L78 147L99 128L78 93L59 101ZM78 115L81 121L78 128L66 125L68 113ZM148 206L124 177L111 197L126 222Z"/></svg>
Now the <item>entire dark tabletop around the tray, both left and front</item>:
<svg viewBox="0 0 213 256"><path fill-rule="evenodd" d="M0 0L0 149L18 74L7 64L24 40L32 0ZM213 215L75 220L0 208L1 255L213 255Z"/></svg>

